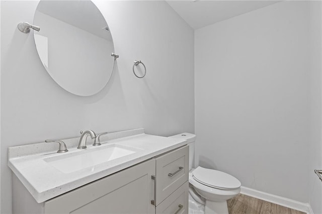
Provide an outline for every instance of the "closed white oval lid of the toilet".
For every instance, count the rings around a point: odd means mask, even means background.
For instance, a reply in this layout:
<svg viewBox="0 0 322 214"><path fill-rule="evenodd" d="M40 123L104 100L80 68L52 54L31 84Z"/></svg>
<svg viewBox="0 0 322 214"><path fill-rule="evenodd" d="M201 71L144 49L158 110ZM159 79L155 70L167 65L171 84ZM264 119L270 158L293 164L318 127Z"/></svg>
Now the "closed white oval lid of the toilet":
<svg viewBox="0 0 322 214"><path fill-rule="evenodd" d="M198 166L192 172L193 178L204 185L218 189L237 189L240 181L227 173Z"/></svg>

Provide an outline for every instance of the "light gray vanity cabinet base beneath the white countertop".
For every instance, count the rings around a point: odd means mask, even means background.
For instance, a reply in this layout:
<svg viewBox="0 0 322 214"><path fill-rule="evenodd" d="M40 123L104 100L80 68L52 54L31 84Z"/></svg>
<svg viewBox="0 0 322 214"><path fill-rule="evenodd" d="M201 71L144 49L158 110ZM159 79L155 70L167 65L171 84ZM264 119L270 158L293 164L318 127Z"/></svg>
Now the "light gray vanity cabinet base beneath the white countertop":
<svg viewBox="0 0 322 214"><path fill-rule="evenodd" d="M14 213L188 213L188 164L183 146L43 203L15 178Z"/></svg>

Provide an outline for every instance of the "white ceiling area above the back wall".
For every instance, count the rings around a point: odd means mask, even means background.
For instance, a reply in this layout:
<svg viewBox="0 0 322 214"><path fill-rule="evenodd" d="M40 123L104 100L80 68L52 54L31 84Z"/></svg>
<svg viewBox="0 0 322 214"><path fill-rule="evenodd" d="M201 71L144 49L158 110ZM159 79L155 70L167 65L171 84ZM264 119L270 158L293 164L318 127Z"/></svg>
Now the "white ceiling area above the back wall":
<svg viewBox="0 0 322 214"><path fill-rule="evenodd" d="M193 28L198 29L279 1L170 1L166 2Z"/></svg>

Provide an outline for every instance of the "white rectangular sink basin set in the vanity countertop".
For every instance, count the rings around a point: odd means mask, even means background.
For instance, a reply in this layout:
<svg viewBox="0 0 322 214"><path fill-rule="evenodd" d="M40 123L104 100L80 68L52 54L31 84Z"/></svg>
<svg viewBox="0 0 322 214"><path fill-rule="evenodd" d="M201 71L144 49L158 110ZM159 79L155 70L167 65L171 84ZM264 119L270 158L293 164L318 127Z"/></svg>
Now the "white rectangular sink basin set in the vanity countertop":
<svg viewBox="0 0 322 214"><path fill-rule="evenodd" d="M113 144L45 158L44 161L63 173L70 173L89 167L92 168L95 165L133 154L138 150Z"/></svg>

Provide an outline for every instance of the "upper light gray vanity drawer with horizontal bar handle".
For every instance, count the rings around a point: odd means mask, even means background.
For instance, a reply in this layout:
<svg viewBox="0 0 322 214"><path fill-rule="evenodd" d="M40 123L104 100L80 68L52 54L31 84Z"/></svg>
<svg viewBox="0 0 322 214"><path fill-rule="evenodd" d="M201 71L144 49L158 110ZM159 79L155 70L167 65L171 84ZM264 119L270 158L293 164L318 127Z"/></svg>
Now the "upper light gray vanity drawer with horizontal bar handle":
<svg viewBox="0 0 322 214"><path fill-rule="evenodd" d="M156 204L178 189L189 177L189 146L156 158Z"/></svg>

